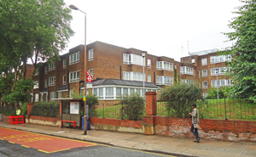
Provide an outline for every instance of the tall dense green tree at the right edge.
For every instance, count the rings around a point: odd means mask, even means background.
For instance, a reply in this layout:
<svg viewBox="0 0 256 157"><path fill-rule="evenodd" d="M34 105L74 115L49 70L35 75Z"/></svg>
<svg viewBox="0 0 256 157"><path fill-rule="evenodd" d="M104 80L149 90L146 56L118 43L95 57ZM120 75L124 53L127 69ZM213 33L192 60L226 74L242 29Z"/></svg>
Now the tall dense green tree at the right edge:
<svg viewBox="0 0 256 157"><path fill-rule="evenodd" d="M224 33L230 41L236 43L224 54L233 56L230 63L233 92L256 101L256 1L241 2L243 5L234 12L238 16L229 25L234 31Z"/></svg>

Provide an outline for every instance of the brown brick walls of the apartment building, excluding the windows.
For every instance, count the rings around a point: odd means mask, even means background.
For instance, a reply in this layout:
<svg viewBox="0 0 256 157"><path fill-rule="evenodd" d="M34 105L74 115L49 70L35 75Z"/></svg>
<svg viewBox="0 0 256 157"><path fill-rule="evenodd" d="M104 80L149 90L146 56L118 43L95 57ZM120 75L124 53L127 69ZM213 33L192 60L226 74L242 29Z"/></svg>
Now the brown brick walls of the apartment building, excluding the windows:
<svg viewBox="0 0 256 157"><path fill-rule="evenodd" d="M142 50L135 48L120 48L104 42L92 42L87 45L86 48L86 71L93 71L93 80L101 79L117 79L124 80L125 72L136 72L143 74L142 64L125 64L124 54L137 54L137 56L142 56L145 53L145 81L148 82L148 77L150 77L150 82L157 84L157 77L161 77L164 82L164 76L172 77L173 84L175 81L180 83L183 80L194 81L196 85L202 87L202 82L207 81L207 88L204 89L204 93L211 87L211 81L216 80L216 76L211 76L211 68L214 67L224 67L226 63L210 64L210 57L216 56L217 53L207 53L206 55L193 55L191 59L195 59L195 63L189 63L190 57L184 57L181 62L177 62L172 58L167 58L164 56L158 57L152 54L148 54ZM93 50L93 58L90 59L89 52ZM75 64L69 64L69 58L72 54L79 53L79 62ZM131 56L132 57L132 56ZM201 65L201 59L207 59L207 65ZM151 61L151 66L148 67L148 59ZM63 60L66 60L67 67L63 67ZM172 64L172 70L157 70L157 61L164 61L165 63ZM181 74L180 68L189 67L194 70L193 75ZM45 69L48 70L45 72ZM177 76L175 76L175 70ZM207 70L207 77L198 76L198 71L202 73L202 70ZM79 71L79 80L70 82L70 74L74 71ZM71 91L75 93L81 93L84 88L84 45L79 45L75 48L69 50L61 56L61 59L55 62L55 70L49 71L49 64L44 63L39 66L39 75L34 76L34 81L39 81L39 87L33 90L35 94L39 94L38 101L46 101L50 99L50 93L60 92L61 98L69 97ZM49 84L49 77L55 76L55 86L45 86L45 82ZM66 76L66 84L63 84L63 76ZM133 79L133 78L132 78ZM165 78L166 79L166 78ZM224 75L218 76L218 79L227 79ZM63 86L66 86L63 88ZM167 85L160 84L160 87L165 87ZM82 92L83 93L83 92ZM89 93L92 93L91 88ZM58 98L58 93L55 93L55 98ZM41 98L43 97L43 98Z"/></svg>

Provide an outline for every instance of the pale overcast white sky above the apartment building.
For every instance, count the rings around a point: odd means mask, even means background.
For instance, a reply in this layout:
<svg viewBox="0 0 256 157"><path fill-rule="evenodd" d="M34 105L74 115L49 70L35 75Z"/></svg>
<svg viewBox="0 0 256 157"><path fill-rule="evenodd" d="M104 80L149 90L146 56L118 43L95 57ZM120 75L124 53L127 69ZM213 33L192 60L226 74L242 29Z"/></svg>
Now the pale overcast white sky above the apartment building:
<svg viewBox="0 0 256 157"><path fill-rule="evenodd" d="M136 48L176 61L190 53L230 47L223 32L239 0L64 0L86 13L86 43ZM84 14L72 11L70 48L84 44ZM234 43L234 42L233 42Z"/></svg>

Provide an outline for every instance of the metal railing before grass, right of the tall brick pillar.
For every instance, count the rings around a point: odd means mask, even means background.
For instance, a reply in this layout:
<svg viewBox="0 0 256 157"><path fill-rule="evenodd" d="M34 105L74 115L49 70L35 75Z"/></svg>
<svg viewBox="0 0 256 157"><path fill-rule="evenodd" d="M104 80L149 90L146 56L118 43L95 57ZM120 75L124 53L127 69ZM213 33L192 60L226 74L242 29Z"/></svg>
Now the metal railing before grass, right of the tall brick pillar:
<svg viewBox="0 0 256 157"><path fill-rule="evenodd" d="M247 98L204 99L197 103L197 109L204 119L256 121L256 104ZM157 115L174 117L175 110L158 101Z"/></svg>

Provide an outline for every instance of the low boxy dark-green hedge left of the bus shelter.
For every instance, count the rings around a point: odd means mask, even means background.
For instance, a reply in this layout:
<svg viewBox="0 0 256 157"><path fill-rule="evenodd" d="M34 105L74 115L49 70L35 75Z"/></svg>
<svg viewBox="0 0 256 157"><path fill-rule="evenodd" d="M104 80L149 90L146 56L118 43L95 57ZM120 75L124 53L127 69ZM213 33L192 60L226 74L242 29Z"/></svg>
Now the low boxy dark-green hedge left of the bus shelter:
<svg viewBox="0 0 256 157"><path fill-rule="evenodd" d="M39 102L33 104L31 115L57 117L60 112L60 104L57 101Z"/></svg>

